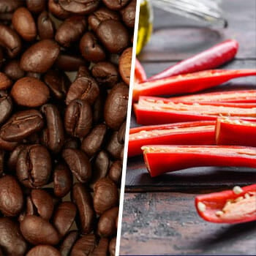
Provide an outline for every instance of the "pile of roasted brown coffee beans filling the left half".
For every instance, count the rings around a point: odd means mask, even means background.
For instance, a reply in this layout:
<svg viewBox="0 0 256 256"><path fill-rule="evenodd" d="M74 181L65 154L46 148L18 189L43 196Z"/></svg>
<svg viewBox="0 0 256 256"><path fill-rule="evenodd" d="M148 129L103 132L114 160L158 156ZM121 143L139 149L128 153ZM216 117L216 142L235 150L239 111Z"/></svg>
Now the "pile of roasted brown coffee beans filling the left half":
<svg viewBox="0 0 256 256"><path fill-rule="evenodd" d="M114 255L135 0L0 0L0 256Z"/></svg>

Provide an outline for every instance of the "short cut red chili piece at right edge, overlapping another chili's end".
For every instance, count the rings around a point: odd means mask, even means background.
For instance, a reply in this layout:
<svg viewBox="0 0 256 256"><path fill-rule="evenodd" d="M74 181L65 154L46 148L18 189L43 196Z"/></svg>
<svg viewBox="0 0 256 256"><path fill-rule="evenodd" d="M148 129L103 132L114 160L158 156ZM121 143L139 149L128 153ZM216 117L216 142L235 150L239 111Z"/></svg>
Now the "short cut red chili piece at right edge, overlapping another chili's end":
<svg viewBox="0 0 256 256"><path fill-rule="evenodd" d="M217 118L216 143L256 147L256 122L238 118Z"/></svg>

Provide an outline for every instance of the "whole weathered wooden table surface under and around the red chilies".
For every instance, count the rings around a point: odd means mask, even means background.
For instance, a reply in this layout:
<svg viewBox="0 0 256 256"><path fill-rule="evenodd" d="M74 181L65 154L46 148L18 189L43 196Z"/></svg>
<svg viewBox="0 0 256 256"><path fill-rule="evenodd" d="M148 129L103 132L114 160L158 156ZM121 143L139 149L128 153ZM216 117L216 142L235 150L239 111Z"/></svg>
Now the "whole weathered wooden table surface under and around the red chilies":
<svg viewBox="0 0 256 256"><path fill-rule="evenodd" d="M256 1L223 0L227 29L154 10L154 34L138 58L149 76L225 39L240 43L227 69L256 68ZM219 89L256 88L239 78ZM135 127L132 115L131 127ZM256 171L200 167L151 178L141 157L128 159L120 255L256 255L256 222L217 225L198 217L195 195L256 182Z"/></svg>

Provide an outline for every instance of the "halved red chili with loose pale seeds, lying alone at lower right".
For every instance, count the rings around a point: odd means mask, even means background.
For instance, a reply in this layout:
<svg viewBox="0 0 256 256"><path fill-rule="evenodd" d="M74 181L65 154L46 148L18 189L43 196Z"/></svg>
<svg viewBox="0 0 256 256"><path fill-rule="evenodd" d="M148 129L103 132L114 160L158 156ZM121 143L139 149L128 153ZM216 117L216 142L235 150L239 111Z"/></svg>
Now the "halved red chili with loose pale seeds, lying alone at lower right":
<svg viewBox="0 0 256 256"><path fill-rule="evenodd" d="M256 220L256 184L195 197L197 213L208 222L241 223Z"/></svg>

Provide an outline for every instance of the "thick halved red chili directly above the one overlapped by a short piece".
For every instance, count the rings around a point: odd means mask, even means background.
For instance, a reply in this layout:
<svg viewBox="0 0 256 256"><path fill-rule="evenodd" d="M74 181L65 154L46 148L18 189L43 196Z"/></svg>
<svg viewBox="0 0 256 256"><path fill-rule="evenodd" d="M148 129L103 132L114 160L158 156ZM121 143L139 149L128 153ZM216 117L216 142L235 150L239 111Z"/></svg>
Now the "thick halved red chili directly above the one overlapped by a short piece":
<svg viewBox="0 0 256 256"><path fill-rule="evenodd" d="M134 105L138 124L169 124L183 121L216 120L218 116L236 116L243 120L255 120L256 108L248 108L244 103L176 103L170 99L140 97ZM255 105L254 105L255 106Z"/></svg>

